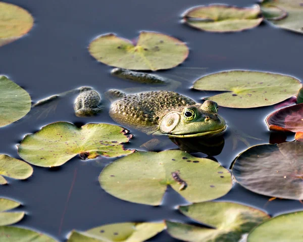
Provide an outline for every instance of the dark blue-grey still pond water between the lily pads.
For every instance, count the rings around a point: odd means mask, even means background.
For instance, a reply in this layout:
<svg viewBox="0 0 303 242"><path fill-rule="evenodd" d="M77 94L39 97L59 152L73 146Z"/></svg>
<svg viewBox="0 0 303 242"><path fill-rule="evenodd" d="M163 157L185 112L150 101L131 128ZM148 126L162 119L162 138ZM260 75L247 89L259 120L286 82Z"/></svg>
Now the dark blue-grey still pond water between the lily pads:
<svg viewBox="0 0 303 242"><path fill-rule="evenodd" d="M110 67L97 63L87 52L88 43L97 35L114 32L134 38L140 30L151 30L175 36L190 47L189 58L181 66L160 74L178 75L183 85L177 91L199 101L208 93L193 91L192 81L206 73L227 69L264 70L293 75L303 80L302 36L276 29L268 24L240 33L216 34L194 30L180 24L180 14L189 7L210 4L211 1L135 1L135 0L11 0L4 1L29 10L35 26L28 36L0 48L0 73L24 87L33 101L82 85L93 86L99 92L109 88L134 87L136 84L110 76ZM250 6L253 1L226 0L224 3ZM187 67L207 67L206 70ZM179 79L180 80L180 79ZM138 86L138 85L137 85ZM114 123L107 110L97 117L78 118L74 115L71 95L58 103L55 112L45 118L32 116L0 129L0 153L19 158L16 144L51 122L68 121L78 125L88 122ZM274 107L259 109L221 108L220 114L229 125L260 138L247 139L250 145L268 143L270 132L264 118ZM40 113L39 113L40 115ZM150 139L133 131L135 137L128 147L139 146ZM288 137L291 140L291 137ZM215 158L229 167L238 153L246 149L242 142L232 150L231 132L225 135L222 153ZM176 146L172 145L172 148ZM200 154L198 154L200 156ZM19 210L26 211L17 225L46 232L63 241L72 229L85 230L107 223L125 221L159 221L163 219L189 222L175 209L185 201L168 189L163 205L145 206L121 201L100 188L97 177L104 166L114 159L98 158L83 162L74 158L58 169L34 167L26 181L10 180L0 187L0 196L18 200ZM219 200L236 201L277 215L301 210L297 201L274 200L252 193L236 184ZM149 241L178 241L162 232Z"/></svg>

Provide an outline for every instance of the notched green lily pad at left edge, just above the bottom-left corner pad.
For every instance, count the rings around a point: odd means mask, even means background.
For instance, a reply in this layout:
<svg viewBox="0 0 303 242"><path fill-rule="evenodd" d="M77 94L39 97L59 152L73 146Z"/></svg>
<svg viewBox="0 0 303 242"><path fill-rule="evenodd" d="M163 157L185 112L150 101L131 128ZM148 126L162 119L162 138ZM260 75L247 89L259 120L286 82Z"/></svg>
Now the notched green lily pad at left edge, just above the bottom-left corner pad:
<svg viewBox="0 0 303 242"><path fill-rule="evenodd" d="M0 226L17 223L24 217L24 212L6 212L7 210L17 208L19 205L20 203L18 202L0 198Z"/></svg>

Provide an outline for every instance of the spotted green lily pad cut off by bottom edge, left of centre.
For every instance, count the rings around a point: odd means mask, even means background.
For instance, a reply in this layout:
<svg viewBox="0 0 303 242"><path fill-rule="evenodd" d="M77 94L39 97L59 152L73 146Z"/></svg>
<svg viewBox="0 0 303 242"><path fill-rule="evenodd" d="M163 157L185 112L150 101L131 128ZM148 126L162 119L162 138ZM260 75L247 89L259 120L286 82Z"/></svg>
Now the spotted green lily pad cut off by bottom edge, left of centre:
<svg viewBox="0 0 303 242"><path fill-rule="evenodd" d="M143 242L166 228L164 223L115 223L73 231L68 242Z"/></svg>

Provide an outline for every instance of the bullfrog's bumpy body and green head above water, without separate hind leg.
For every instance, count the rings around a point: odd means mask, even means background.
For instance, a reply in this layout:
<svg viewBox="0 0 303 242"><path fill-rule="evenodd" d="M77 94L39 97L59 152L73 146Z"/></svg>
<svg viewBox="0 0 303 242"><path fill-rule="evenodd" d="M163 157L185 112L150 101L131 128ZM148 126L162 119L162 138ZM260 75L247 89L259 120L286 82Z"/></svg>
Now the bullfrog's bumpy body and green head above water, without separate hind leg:
<svg viewBox="0 0 303 242"><path fill-rule="evenodd" d="M110 116L117 123L147 134L169 137L215 136L226 129L218 104L193 100L173 91L125 94L109 90Z"/></svg>

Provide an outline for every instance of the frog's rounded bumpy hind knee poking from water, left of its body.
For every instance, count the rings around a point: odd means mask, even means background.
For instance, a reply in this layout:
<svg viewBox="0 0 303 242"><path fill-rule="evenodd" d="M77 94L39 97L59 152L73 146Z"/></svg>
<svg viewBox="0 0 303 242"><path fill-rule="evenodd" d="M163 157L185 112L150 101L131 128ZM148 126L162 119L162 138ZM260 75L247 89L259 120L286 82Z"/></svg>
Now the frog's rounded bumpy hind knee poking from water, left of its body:
<svg viewBox="0 0 303 242"><path fill-rule="evenodd" d="M95 90L83 91L77 96L74 103L75 114L78 117L93 116L102 111L100 106L101 98L98 92Z"/></svg>

